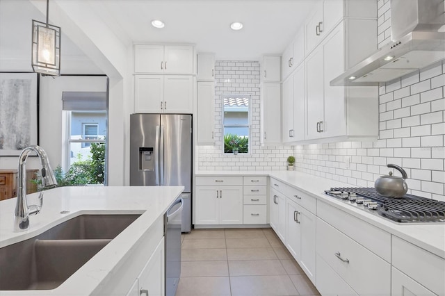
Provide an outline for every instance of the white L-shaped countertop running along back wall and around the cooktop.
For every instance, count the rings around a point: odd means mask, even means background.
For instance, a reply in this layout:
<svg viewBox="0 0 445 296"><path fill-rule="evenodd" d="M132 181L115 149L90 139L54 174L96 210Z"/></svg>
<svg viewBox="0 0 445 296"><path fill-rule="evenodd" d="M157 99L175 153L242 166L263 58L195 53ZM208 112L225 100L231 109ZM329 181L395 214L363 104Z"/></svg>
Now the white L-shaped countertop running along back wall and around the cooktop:
<svg viewBox="0 0 445 296"><path fill-rule="evenodd" d="M390 220L366 213L358 208L350 206L338 199L334 199L324 194L324 190L331 187L357 187L347 183L341 183L332 179L325 179L320 176L305 174L296 171L243 171L243 172L227 172L227 171L208 171L197 172L196 176L216 176L216 175L230 175L230 176L272 176L279 179L289 186L299 188L313 195L317 199L340 208L350 215L358 217L375 227L383 229L394 236L403 238L408 242L412 242L423 249L445 258L445 224L444 223L401 223L392 222Z"/></svg>

